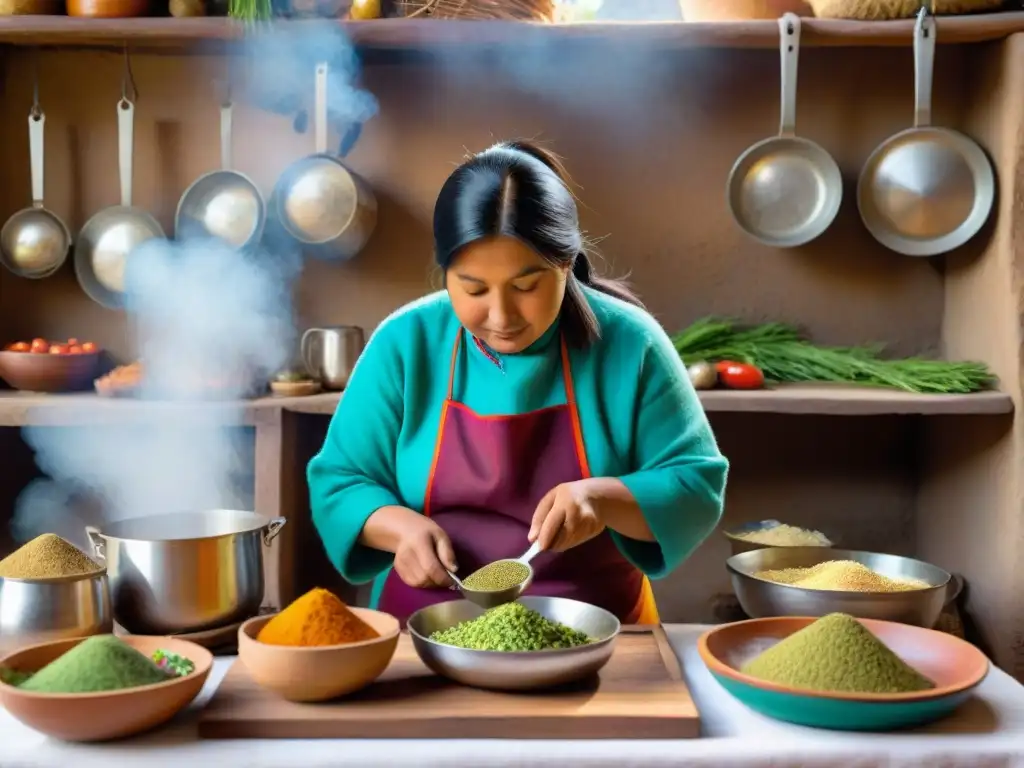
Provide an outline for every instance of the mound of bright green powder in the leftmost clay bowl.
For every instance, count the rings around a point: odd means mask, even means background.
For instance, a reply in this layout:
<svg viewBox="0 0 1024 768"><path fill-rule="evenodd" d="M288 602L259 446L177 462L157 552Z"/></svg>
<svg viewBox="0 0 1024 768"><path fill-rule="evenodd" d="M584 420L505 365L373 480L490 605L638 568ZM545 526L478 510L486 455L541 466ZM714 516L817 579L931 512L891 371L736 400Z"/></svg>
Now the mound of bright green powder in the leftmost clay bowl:
<svg viewBox="0 0 1024 768"><path fill-rule="evenodd" d="M163 683L170 677L114 635L87 638L18 687L38 693L97 693Z"/></svg>

